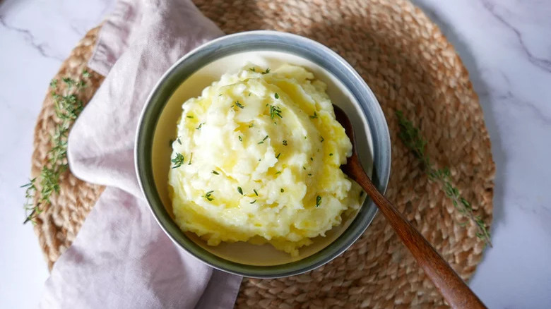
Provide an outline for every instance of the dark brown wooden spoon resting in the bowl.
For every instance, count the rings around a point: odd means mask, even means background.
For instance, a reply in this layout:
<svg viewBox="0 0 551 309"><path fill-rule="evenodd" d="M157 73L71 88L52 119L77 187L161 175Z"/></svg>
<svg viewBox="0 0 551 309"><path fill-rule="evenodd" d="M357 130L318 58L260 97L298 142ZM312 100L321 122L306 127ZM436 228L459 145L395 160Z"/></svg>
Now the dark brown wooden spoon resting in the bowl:
<svg viewBox="0 0 551 309"><path fill-rule="evenodd" d="M362 164L360 164L360 159L357 157L354 132L350 119L348 119L348 116L346 116L342 109L335 105L333 107L337 121L343 125L348 138L352 142L352 156L348 158L345 165L340 166L340 169L348 177L360 184L372 198L403 244L408 247L417 263L425 270L425 274L431 279L432 283L434 283L451 307L486 308L484 303L469 289L467 284L454 272L454 269L449 266L448 262L438 254L437 250L431 246L427 239L375 188L372 181L365 174Z"/></svg>

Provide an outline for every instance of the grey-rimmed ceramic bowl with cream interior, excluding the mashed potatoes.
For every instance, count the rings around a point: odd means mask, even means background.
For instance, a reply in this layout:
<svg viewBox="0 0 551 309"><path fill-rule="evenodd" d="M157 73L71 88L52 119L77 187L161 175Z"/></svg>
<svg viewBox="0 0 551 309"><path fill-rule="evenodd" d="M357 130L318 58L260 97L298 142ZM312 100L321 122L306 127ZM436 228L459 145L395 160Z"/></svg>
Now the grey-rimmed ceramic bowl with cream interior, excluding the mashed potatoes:
<svg viewBox="0 0 551 309"><path fill-rule="evenodd" d="M161 228L177 246L199 260L225 272L247 277L273 278L307 272L337 257L354 243L377 213L366 199L355 214L316 237L298 257L275 250L271 245L222 243L207 246L192 233L184 233L172 219L168 195L168 171L182 103L223 73L236 72L248 63L277 68L283 63L304 66L328 85L333 104L341 107L354 126L362 165L374 185L386 190L389 180L391 144L389 130L377 99L352 66L322 44L298 35L273 31L242 32L213 40L186 54L168 69L153 88L138 124L136 173L148 204Z"/></svg>

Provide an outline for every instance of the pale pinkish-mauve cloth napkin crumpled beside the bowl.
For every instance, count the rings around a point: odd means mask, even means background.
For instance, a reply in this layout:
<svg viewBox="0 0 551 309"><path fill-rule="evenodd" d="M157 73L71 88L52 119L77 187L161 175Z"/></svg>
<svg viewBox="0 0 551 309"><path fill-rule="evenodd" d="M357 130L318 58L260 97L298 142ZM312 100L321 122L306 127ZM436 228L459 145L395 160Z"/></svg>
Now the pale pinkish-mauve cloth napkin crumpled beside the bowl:
<svg viewBox="0 0 551 309"><path fill-rule="evenodd" d="M241 277L170 241L134 172L138 116L153 86L189 50L223 35L189 0L122 0L89 66L106 75L69 136L69 166L107 189L47 279L44 308L230 308Z"/></svg>

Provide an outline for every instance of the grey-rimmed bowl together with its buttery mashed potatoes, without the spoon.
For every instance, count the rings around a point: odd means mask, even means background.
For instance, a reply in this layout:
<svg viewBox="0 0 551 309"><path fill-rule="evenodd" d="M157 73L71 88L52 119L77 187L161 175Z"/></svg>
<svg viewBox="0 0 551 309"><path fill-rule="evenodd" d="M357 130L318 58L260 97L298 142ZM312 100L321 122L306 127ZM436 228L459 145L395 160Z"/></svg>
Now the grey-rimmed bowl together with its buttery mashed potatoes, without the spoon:
<svg viewBox="0 0 551 309"><path fill-rule="evenodd" d="M369 87L304 37L254 31L190 52L160 79L136 135L136 172L177 246L217 269L285 277L332 260L377 207L340 170L352 144L384 192L390 138Z"/></svg>

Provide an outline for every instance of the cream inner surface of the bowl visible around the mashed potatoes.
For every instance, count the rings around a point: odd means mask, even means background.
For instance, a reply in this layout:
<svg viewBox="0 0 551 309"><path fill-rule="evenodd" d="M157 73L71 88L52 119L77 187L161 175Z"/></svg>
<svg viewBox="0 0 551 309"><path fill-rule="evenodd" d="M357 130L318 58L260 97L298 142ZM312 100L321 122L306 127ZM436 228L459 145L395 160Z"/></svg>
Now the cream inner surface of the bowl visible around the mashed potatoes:
<svg viewBox="0 0 551 309"><path fill-rule="evenodd" d="M324 81L328 85L327 92L332 102L343 108L350 115L354 131L357 135L358 154L362 160L362 165L371 174L373 166L372 138L369 126L367 125L367 119L360 109L360 104L357 103L343 83L340 83L339 80L324 70L324 68L321 68L321 66L300 56L274 51L240 52L212 61L191 74L189 78L177 87L177 90L172 94L159 116L152 147L153 178L162 200L162 205L171 217L173 217L172 205L167 188L167 176L170 169L170 156L172 152L170 142L176 138L177 121L182 114L182 103L191 97L201 95L203 88L219 80L220 76L224 73L235 73L239 68L250 63L272 69L278 68L278 66L285 63L291 63L307 68L314 73L317 79ZM314 238L314 243L301 248L300 255L297 257L291 257L288 253L276 250L269 244L259 246L237 242L208 246L206 241L203 241L193 233L186 233L186 236L198 246L225 260L247 265L281 265L302 260L304 257L313 255L328 246L329 243L335 241L343 233L356 214L357 212L343 217L343 224L328 231L325 237L319 236Z"/></svg>

